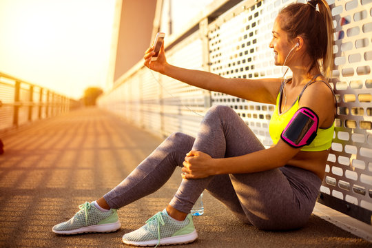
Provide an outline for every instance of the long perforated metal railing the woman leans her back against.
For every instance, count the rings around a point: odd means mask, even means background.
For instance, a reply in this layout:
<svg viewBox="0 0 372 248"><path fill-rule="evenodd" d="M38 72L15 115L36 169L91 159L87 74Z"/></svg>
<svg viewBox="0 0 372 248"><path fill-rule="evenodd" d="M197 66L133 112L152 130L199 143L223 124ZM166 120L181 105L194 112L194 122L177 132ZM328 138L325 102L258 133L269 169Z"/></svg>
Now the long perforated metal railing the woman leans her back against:
<svg viewBox="0 0 372 248"><path fill-rule="evenodd" d="M216 1L197 23L168 37L169 63L225 77L282 76L269 49L273 20L291 1ZM234 2L234 6L229 3ZM214 3L212 3L213 5ZM329 0L335 26L335 67L331 85L338 115L326 177L318 201L371 225L372 218L372 1ZM194 19L196 20L196 19ZM200 116L211 105L228 105L264 145L270 145L273 105L200 90L152 74L140 61L99 99L99 105L150 132L196 135Z"/></svg>

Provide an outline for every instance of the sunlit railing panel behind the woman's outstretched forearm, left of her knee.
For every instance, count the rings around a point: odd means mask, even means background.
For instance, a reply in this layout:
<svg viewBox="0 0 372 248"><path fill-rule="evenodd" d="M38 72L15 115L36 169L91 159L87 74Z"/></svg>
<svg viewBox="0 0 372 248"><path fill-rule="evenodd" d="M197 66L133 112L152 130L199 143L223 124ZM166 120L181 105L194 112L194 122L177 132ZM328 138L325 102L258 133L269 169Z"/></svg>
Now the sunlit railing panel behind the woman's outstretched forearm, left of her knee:
<svg viewBox="0 0 372 248"><path fill-rule="evenodd" d="M194 32L167 52L167 61L182 68L202 70L202 48L200 34ZM168 136L173 132L183 132L196 136L206 110L205 97L209 97L209 92L205 93L205 90L176 81L168 76L158 76L158 81L163 86L161 87L162 134Z"/></svg>

